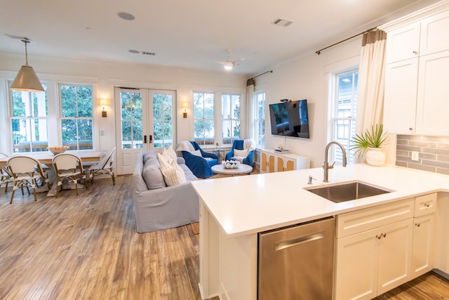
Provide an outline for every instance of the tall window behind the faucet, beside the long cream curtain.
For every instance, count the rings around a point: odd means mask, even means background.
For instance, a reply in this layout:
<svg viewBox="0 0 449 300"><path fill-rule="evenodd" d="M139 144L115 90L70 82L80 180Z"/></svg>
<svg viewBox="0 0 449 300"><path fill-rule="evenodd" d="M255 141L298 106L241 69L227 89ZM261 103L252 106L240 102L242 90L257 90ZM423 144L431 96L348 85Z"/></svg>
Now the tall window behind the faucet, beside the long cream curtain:
<svg viewBox="0 0 449 300"><path fill-rule="evenodd" d="M354 163L354 150L350 148L351 138L356 134L357 82L358 69L335 74L331 138L344 145L348 164ZM342 162L340 148L334 148L333 159L335 162Z"/></svg>

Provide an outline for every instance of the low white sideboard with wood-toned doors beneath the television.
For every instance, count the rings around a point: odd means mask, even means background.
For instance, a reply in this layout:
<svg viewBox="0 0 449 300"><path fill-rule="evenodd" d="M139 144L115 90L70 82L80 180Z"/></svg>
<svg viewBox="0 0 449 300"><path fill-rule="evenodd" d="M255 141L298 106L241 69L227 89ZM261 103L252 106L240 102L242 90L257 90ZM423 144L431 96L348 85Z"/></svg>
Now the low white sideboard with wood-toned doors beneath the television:
<svg viewBox="0 0 449 300"><path fill-rule="evenodd" d="M274 150L260 150L260 173L309 169L310 159L292 153L276 153Z"/></svg>

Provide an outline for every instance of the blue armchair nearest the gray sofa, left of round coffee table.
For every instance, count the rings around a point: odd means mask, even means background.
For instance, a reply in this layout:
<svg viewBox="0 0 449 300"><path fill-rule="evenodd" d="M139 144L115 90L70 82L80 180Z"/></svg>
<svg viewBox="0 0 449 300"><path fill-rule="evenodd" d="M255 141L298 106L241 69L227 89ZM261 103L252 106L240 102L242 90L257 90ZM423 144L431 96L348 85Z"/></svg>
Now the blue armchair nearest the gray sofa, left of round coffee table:
<svg viewBox="0 0 449 300"><path fill-rule="evenodd" d="M199 178L208 178L215 175L212 168L215 164L218 164L218 155L211 152L203 151L198 145L198 143L191 141L192 146L195 150L200 150L201 156L194 155L188 151L181 151L182 157L185 159L185 164L192 173Z"/></svg>

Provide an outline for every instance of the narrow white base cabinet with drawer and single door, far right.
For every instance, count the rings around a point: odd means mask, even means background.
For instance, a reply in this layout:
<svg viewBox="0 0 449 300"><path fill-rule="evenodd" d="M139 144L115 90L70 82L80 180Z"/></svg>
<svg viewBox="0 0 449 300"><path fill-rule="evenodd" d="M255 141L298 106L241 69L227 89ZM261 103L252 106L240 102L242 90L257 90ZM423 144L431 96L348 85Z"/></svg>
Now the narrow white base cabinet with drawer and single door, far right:
<svg viewBox="0 0 449 300"><path fill-rule="evenodd" d="M415 199L412 278L434 268L436 198L436 193L433 193Z"/></svg>

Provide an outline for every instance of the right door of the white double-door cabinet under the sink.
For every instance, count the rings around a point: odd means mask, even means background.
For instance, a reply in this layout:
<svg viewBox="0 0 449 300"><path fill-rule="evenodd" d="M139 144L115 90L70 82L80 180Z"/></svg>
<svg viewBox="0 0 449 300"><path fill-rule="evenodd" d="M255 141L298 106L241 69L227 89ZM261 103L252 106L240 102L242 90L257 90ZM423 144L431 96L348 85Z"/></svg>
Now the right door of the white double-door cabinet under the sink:
<svg viewBox="0 0 449 300"><path fill-rule="evenodd" d="M377 294L408 282L411 278L413 218L380 227Z"/></svg>

